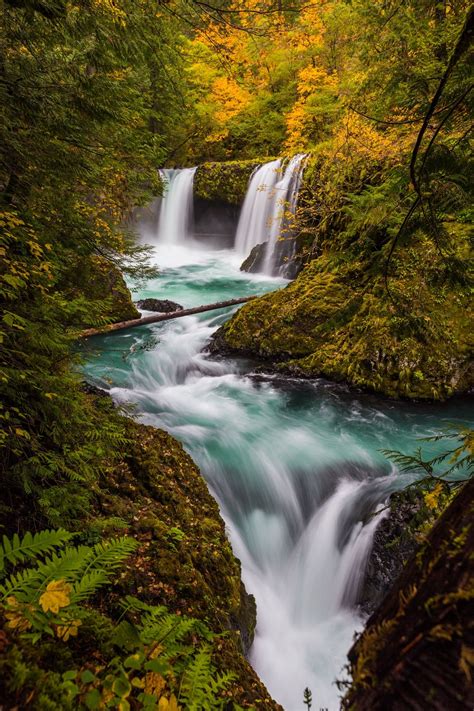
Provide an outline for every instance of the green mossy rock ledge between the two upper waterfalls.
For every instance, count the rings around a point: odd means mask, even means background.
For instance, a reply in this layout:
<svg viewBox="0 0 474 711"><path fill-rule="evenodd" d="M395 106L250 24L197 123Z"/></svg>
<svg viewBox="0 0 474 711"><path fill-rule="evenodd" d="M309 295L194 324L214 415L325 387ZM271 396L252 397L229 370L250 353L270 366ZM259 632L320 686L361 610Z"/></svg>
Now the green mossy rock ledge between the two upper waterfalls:
<svg viewBox="0 0 474 711"><path fill-rule="evenodd" d="M203 163L194 176L194 195L203 200L241 205L250 176L258 165L257 160Z"/></svg>

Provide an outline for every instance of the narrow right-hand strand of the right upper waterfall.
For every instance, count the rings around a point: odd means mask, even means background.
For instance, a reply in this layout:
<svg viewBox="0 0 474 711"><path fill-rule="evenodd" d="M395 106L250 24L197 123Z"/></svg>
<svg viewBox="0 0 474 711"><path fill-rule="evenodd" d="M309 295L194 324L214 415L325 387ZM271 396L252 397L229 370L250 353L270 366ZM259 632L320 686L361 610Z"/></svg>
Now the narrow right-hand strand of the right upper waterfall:
<svg viewBox="0 0 474 711"><path fill-rule="evenodd" d="M292 229L291 221L296 211L305 158L305 153L293 156L285 168L283 177L275 185L268 245L262 268L264 274L273 274L277 241L283 236L285 230Z"/></svg>

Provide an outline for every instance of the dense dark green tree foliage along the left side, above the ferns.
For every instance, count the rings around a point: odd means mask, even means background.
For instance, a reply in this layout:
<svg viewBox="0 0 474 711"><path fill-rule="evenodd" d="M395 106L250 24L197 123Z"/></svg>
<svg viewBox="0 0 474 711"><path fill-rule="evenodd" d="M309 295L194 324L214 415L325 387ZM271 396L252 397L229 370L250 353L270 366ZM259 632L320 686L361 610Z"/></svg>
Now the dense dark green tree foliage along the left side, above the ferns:
<svg viewBox="0 0 474 711"><path fill-rule="evenodd" d="M58 526L124 442L81 392L74 340L136 315L117 268L151 273L126 224L160 190L176 33L128 0L6 2L0 26L1 510Z"/></svg>

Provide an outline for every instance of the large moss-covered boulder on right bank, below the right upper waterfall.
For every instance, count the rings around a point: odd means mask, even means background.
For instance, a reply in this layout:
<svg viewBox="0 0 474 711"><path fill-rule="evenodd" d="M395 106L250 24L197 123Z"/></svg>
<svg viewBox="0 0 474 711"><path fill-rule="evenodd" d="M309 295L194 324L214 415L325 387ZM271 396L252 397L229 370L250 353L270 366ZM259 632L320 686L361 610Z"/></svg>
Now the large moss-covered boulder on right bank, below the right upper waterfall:
<svg viewBox="0 0 474 711"><path fill-rule="evenodd" d="M356 245L357 247L357 245ZM467 258L457 233L456 258ZM470 300L422 233L392 257L325 251L297 279L246 304L216 334L215 350L246 353L276 369L391 397L445 399L473 384Z"/></svg>

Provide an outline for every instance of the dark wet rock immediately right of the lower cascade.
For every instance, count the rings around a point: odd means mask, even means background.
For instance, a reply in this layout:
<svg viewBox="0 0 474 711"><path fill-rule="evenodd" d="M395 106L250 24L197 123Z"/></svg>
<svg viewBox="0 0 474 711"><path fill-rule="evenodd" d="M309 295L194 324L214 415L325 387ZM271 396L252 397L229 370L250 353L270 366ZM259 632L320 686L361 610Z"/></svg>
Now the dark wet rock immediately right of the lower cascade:
<svg viewBox="0 0 474 711"><path fill-rule="evenodd" d="M359 608L372 614L417 548L414 528L421 516L423 497L414 491L398 491L390 496L390 512L379 524L367 564Z"/></svg>

